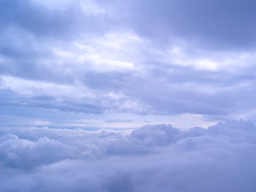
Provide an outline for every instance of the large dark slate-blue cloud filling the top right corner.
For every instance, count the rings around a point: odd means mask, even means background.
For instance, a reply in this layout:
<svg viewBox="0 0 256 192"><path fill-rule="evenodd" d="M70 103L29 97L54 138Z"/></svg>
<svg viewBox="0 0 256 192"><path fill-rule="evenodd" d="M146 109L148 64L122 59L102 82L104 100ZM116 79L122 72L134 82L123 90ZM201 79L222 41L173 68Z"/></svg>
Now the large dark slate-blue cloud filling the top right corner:
<svg viewBox="0 0 256 192"><path fill-rule="evenodd" d="M166 42L180 36L214 49L254 47L254 1L140 1L132 5L135 13L127 17L150 38Z"/></svg>

